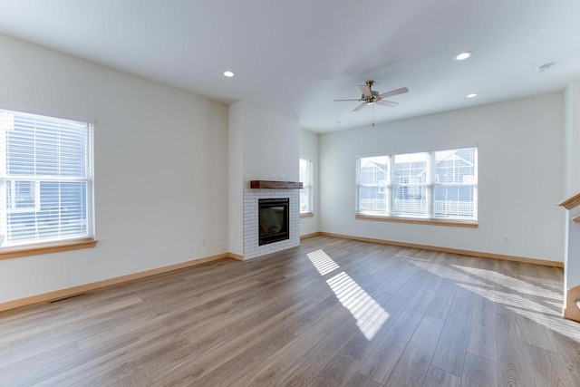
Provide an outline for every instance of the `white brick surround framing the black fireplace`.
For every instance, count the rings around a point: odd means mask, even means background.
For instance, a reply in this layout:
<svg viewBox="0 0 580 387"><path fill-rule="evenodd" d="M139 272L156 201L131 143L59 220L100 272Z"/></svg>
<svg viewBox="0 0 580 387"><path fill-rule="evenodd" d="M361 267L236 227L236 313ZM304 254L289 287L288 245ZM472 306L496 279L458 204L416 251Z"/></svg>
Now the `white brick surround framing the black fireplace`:
<svg viewBox="0 0 580 387"><path fill-rule="evenodd" d="M258 245L259 198L289 198L290 238L268 245ZM244 189L244 260L265 256L300 245L300 189Z"/></svg>

